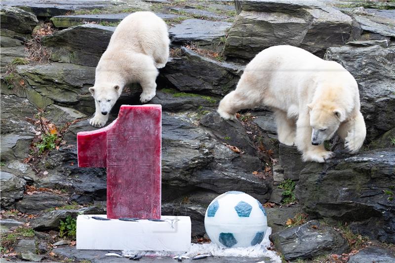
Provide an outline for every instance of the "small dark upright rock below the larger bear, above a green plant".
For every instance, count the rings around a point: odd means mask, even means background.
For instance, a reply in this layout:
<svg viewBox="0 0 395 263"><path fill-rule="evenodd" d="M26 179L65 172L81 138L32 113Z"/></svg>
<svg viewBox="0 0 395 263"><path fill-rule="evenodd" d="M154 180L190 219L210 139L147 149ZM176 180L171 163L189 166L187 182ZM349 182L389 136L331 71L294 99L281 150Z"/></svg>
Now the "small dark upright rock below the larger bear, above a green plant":
<svg viewBox="0 0 395 263"><path fill-rule="evenodd" d="M296 147L281 143L278 146L278 152L279 163L284 170L284 179L298 180L300 171L306 166L306 163L302 161L302 154Z"/></svg>

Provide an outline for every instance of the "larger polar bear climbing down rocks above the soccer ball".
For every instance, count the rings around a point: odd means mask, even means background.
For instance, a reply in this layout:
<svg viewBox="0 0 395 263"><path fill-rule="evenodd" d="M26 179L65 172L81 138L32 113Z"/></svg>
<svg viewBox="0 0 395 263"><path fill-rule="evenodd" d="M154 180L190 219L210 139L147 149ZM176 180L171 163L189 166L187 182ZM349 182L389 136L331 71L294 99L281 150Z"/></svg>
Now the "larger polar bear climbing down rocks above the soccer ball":
<svg viewBox="0 0 395 263"><path fill-rule="evenodd" d="M351 152L366 136L354 77L340 64L298 47L278 45L257 54L236 90L221 100L218 113L235 119L237 111L260 105L273 109L278 140L296 145L304 161L333 157L323 142L336 131Z"/></svg>

